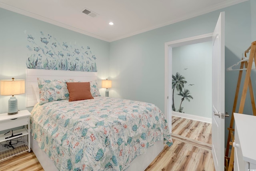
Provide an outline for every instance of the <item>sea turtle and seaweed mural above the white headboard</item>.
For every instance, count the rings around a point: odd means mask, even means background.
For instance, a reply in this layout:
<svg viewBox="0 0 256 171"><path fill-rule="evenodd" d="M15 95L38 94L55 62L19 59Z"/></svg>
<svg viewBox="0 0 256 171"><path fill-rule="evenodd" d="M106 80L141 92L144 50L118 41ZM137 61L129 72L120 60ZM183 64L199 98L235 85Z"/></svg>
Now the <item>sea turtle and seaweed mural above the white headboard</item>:
<svg viewBox="0 0 256 171"><path fill-rule="evenodd" d="M90 46L68 44L42 31L40 37L28 34L27 40L26 48L31 52L27 68L97 72L96 56Z"/></svg>

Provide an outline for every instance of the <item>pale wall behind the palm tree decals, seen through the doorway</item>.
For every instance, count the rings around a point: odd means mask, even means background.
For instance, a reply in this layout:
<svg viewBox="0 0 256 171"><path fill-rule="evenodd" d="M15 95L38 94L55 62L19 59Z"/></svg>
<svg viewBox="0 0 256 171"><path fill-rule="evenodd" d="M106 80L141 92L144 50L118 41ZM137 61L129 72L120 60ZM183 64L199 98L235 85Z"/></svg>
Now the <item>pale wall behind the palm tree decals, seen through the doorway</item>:
<svg viewBox="0 0 256 171"><path fill-rule="evenodd" d="M176 72L187 81L184 89L190 92L188 98L180 103L182 96L174 89L176 111L212 118L212 42L203 42L172 48L172 74Z"/></svg>

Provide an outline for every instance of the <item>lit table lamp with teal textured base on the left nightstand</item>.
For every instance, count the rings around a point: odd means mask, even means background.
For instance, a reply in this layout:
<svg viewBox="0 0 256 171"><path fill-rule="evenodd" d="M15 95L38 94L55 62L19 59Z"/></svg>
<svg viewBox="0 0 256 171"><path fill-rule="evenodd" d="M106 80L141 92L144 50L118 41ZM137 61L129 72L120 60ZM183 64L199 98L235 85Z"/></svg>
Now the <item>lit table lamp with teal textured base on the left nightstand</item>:
<svg viewBox="0 0 256 171"><path fill-rule="evenodd" d="M25 80L0 80L0 95L12 95L8 101L8 115L18 113L18 100L14 95L25 93Z"/></svg>

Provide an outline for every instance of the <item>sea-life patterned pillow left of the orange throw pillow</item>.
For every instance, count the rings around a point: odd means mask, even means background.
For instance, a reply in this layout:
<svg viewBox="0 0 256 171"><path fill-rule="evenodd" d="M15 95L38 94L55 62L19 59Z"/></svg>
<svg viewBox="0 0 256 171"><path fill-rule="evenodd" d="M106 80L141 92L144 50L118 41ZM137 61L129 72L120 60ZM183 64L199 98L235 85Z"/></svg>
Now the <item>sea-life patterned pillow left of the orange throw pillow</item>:
<svg viewBox="0 0 256 171"><path fill-rule="evenodd" d="M45 80L37 78L39 87L40 102L42 105L50 101L69 99L69 92L66 82L74 82L69 80Z"/></svg>

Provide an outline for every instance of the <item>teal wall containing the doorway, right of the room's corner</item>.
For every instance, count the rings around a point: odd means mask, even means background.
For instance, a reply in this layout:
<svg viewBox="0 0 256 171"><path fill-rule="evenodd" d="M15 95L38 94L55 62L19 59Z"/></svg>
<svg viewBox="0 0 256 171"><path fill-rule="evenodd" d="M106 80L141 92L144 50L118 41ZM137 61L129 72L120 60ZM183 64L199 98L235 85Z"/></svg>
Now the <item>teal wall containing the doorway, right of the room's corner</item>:
<svg viewBox="0 0 256 171"><path fill-rule="evenodd" d="M220 12L225 11L225 68L228 68L240 61L242 52L252 42L251 15L255 10L252 13L251 9L255 8L253 0L246 1L111 42L110 94L154 103L164 112L164 43L213 32ZM238 72L225 72L225 78L225 110L231 114ZM255 80L252 77L253 83ZM249 98L244 113L252 113ZM226 118L225 125L229 127L230 118Z"/></svg>

